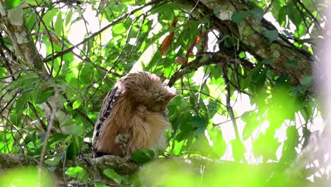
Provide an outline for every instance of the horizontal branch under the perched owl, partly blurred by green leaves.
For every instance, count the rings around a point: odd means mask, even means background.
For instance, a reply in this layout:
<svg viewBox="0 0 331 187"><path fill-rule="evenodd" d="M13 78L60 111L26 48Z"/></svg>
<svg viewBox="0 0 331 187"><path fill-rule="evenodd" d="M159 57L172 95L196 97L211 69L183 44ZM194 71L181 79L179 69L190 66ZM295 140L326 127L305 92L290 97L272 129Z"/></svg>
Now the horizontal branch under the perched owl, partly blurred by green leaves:
<svg viewBox="0 0 331 187"><path fill-rule="evenodd" d="M20 166L36 165L37 160L25 154L0 154L0 174L10 172L9 169ZM134 162L127 162L127 159L124 158L105 155L96 159L66 160L65 164L62 166L57 166L52 169L52 174L54 174L57 179L57 186L67 186L68 183L73 182L75 186L87 185L86 183L75 181L64 174L66 169L71 166L80 166L87 171L88 181L90 181L88 184L93 185L93 183L103 182L110 186L116 186L118 184L103 174L103 170L105 169L114 169L117 174L122 176L137 174L139 169L137 175L146 186L166 183L168 179L171 179L171 177L177 174L182 174L180 178L184 180L187 174L190 176L199 176L198 181L202 183L202 185L210 182L208 181L209 179L222 181L224 184L236 184L238 181L233 181L232 179L240 176L240 180L244 180L250 184L264 183L266 186L270 186L268 184L279 183L280 181L277 180L282 176L282 171L279 170L279 163L244 164L194 156L189 158L173 157L156 159L149 164L139 166ZM275 173L275 171L277 172ZM254 177L252 177L252 174L254 174ZM214 179L216 176L218 176L219 179ZM230 180L228 179L229 177ZM239 183L242 183L243 181L240 180ZM284 176L281 177L281 183L283 185L287 184L285 186L311 186L313 184L305 179L304 176L294 176L291 179Z"/></svg>

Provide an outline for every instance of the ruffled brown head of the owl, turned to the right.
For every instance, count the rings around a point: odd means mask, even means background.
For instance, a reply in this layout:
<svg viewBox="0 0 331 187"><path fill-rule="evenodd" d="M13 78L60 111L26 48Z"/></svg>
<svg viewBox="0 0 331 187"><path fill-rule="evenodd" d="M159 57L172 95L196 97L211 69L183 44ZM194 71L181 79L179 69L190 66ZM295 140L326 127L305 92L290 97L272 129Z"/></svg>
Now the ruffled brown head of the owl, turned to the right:
<svg viewBox="0 0 331 187"><path fill-rule="evenodd" d="M127 74L121 81L129 99L137 106L146 106L149 111L164 111L169 101L177 96L174 87L166 86L160 77L149 72Z"/></svg>

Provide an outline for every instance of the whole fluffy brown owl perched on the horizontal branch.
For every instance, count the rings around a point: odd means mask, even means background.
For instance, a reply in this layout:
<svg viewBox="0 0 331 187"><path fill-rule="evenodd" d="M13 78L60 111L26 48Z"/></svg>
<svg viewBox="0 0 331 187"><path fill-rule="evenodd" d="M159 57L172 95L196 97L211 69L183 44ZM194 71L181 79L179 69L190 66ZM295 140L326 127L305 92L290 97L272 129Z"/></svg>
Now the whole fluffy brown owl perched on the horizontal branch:
<svg viewBox="0 0 331 187"><path fill-rule="evenodd" d="M103 101L93 132L96 157L129 157L136 149L165 149L168 103L176 96L156 74L137 72L118 81ZM162 150L162 151L163 151Z"/></svg>

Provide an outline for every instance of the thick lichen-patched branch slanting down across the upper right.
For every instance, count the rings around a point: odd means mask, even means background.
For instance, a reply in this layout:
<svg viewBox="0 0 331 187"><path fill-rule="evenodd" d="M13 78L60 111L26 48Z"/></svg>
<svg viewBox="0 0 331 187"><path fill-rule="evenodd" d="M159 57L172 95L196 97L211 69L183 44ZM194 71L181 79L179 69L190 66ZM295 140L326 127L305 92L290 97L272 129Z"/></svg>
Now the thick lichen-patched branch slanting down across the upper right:
<svg viewBox="0 0 331 187"><path fill-rule="evenodd" d="M273 62L269 64L272 71L278 75L289 74L289 81L292 85L299 86L303 77L312 75L313 60L310 59L309 52L296 49L289 40L284 40L284 38L281 38L283 40L269 42L262 34L265 30L277 30L271 23L268 23L265 19L257 21L252 16L247 16L245 21L239 24L231 20L233 13L248 11L249 6L244 4L243 1L189 1L192 6L197 5L196 11L194 11L197 15L211 17L211 22L223 35L231 35L240 41L239 47L241 50L250 52L257 60L274 57ZM211 13L213 14L211 15ZM288 67L284 64L291 60L298 62L298 66Z"/></svg>

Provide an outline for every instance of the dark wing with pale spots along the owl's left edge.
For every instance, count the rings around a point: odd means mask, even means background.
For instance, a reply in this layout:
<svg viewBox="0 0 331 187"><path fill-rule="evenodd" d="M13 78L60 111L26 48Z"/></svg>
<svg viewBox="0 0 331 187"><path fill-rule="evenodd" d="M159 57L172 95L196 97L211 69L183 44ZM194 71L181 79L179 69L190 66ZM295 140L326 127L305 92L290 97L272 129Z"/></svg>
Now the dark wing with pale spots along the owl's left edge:
<svg viewBox="0 0 331 187"><path fill-rule="evenodd" d="M98 115L98 120L95 123L94 126L94 132L93 132L93 148L97 147L98 140L100 135L102 135L103 132L101 132L101 129L103 129L103 125L105 120L110 117L110 113L112 113L112 108L114 108L115 102L117 101L118 96L122 93L122 88L120 85L115 84L115 86L112 88L110 92L108 92L107 96L103 100L103 106L100 110L100 113Z"/></svg>

